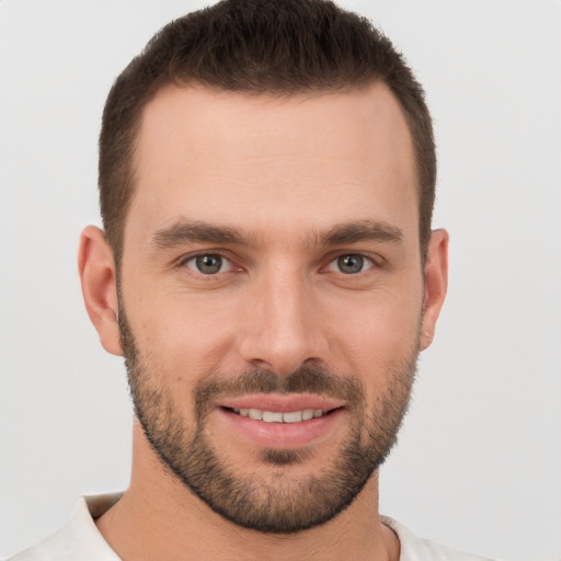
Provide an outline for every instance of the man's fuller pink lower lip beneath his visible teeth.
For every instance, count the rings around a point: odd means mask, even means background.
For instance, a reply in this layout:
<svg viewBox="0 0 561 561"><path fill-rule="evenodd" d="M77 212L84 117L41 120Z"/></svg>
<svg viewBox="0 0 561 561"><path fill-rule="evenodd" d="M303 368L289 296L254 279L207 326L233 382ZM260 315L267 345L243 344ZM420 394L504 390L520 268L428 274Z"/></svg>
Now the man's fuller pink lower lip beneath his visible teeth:
<svg viewBox="0 0 561 561"><path fill-rule="evenodd" d="M239 434L264 448L294 449L310 446L329 436L341 421L342 409L299 423L265 423L228 409L216 410Z"/></svg>

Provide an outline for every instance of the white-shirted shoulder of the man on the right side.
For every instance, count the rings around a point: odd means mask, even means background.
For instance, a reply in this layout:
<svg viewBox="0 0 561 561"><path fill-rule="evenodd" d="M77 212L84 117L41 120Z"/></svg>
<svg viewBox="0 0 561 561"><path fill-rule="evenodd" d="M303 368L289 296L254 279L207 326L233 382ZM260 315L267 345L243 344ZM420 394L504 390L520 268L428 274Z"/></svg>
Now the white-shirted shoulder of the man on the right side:
<svg viewBox="0 0 561 561"><path fill-rule="evenodd" d="M490 558L466 553L440 546L430 539L417 538L402 524L382 516L381 522L390 527L401 543L400 561L491 561Z"/></svg>

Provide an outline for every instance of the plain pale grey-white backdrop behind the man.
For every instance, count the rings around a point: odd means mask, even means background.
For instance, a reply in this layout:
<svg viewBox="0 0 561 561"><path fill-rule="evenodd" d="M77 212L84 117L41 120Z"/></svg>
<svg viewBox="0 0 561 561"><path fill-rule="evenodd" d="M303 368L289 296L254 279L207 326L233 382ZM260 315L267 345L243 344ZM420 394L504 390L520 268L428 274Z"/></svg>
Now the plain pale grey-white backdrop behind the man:
<svg viewBox="0 0 561 561"><path fill-rule="evenodd" d="M112 81L203 2L0 1L0 557L126 488L122 360L83 305L78 237L100 224L96 141ZM512 561L561 558L561 4L342 1L425 85L435 227L450 287L421 359L381 512Z"/></svg>

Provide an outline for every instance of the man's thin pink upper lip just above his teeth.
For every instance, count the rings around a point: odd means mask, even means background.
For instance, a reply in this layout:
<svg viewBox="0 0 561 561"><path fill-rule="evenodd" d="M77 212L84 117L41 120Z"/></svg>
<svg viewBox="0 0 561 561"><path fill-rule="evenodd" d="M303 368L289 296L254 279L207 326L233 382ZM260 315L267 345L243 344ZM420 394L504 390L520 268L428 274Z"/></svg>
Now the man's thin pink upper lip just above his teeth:
<svg viewBox="0 0 561 561"><path fill-rule="evenodd" d="M317 396L314 393L254 393L237 398L224 398L217 402L217 407L229 409L259 409L276 413L289 413L306 409L321 409L331 411L342 408L344 400Z"/></svg>

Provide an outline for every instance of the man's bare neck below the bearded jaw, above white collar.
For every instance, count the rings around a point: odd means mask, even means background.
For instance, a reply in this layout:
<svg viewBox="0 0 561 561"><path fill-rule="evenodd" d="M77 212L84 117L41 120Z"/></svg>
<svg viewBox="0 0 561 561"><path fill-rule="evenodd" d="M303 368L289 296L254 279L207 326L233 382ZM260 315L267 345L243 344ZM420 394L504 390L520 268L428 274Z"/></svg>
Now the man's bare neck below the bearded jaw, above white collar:
<svg viewBox="0 0 561 561"><path fill-rule="evenodd" d="M163 470L140 433L135 426L130 486L96 520L100 533L123 561L399 558L397 536L380 523L377 472L353 504L329 523L290 535L262 534L211 511Z"/></svg>

